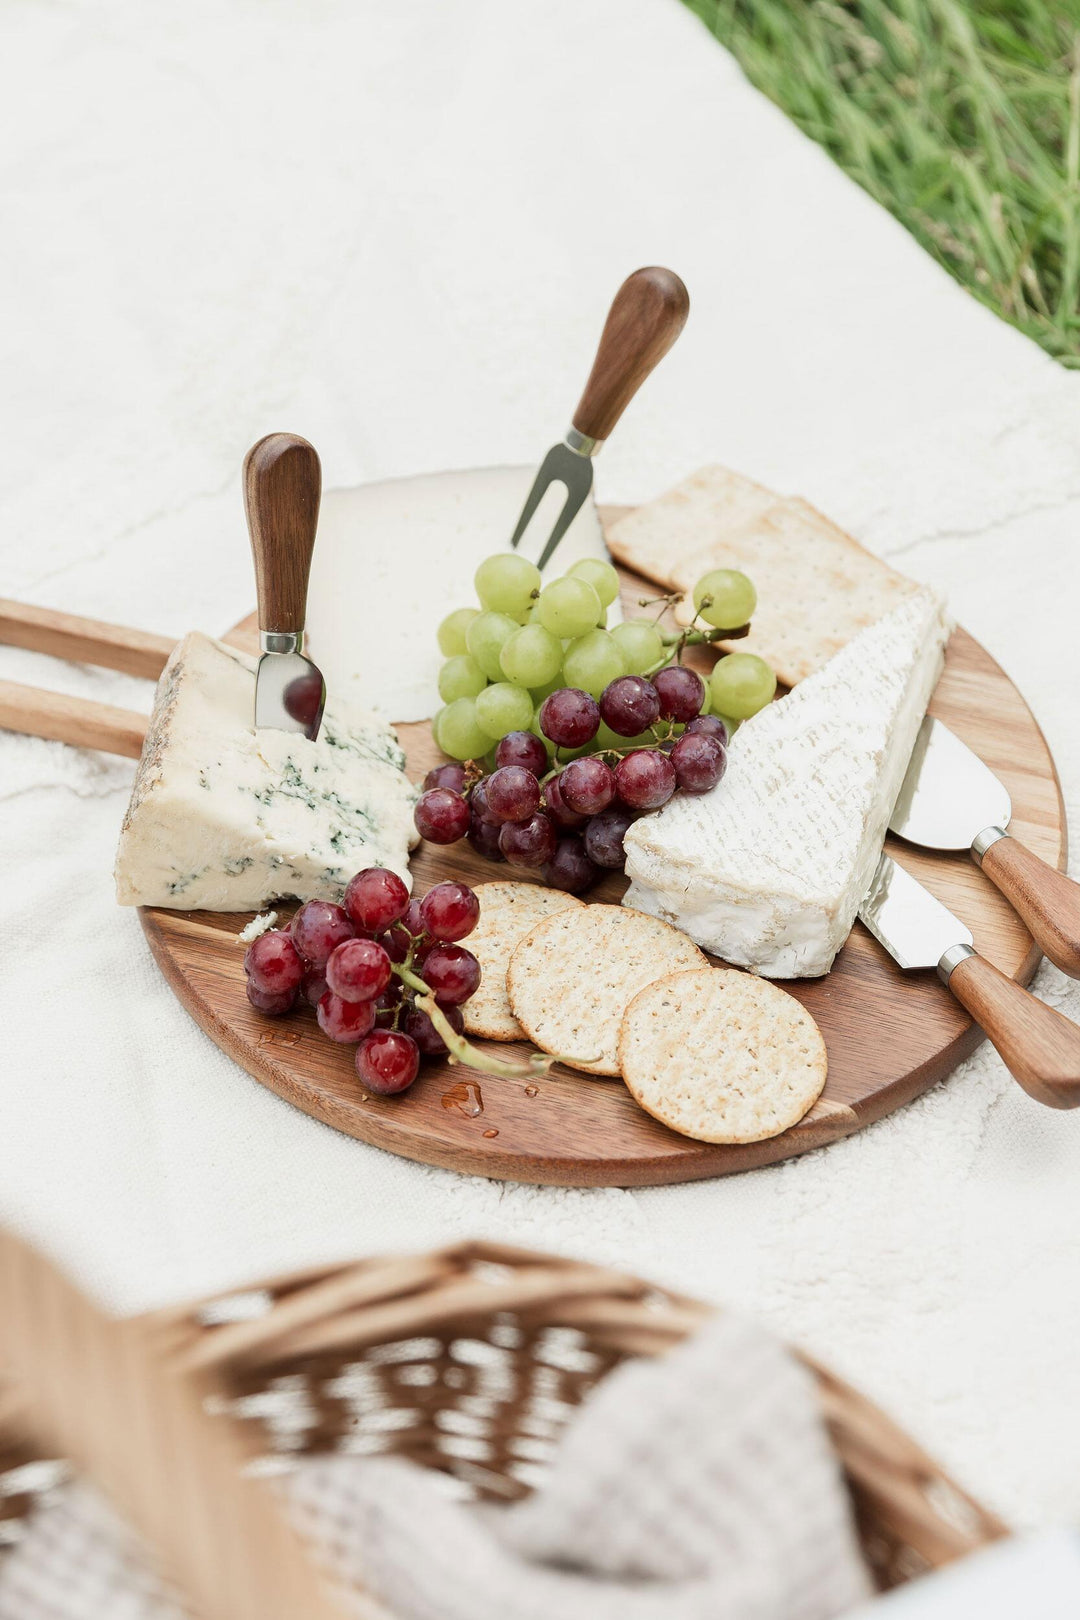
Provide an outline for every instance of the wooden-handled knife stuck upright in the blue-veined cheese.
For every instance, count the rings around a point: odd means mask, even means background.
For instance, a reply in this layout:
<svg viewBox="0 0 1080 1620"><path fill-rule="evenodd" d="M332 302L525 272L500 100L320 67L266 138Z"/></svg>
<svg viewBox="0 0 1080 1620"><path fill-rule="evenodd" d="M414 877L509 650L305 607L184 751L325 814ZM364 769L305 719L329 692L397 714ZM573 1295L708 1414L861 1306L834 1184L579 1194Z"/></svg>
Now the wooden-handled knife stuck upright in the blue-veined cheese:
<svg viewBox="0 0 1080 1620"><path fill-rule="evenodd" d="M321 492L319 457L295 433L270 433L244 455L244 512L262 648L254 723L298 731L313 742L322 724L325 682L303 646Z"/></svg>

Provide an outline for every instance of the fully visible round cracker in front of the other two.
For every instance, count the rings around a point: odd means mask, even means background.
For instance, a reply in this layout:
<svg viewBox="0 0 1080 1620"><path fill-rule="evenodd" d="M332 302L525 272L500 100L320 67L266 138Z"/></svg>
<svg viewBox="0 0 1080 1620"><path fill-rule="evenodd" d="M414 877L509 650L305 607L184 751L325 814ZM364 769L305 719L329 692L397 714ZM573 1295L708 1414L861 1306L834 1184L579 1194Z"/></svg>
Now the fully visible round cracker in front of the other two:
<svg viewBox="0 0 1080 1620"><path fill-rule="evenodd" d="M795 996L751 974L670 974L627 1008L619 1063L636 1102L698 1142L763 1142L816 1103L827 1058Z"/></svg>

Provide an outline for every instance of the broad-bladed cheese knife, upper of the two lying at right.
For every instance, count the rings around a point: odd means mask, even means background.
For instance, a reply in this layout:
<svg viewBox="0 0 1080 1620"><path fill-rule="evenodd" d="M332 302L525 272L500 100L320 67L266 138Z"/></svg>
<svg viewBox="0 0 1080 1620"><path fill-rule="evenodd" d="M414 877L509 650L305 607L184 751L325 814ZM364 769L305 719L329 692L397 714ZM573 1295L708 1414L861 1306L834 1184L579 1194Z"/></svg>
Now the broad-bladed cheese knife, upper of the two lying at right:
<svg viewBox="0 0 1080 1620"><path fill-rule="evenodd" d="M1044 956L1080 978L1080 885L1007 831L1009 789L954 731L928 714L912 750L891 829L925 849L970 849Z"/></svg>

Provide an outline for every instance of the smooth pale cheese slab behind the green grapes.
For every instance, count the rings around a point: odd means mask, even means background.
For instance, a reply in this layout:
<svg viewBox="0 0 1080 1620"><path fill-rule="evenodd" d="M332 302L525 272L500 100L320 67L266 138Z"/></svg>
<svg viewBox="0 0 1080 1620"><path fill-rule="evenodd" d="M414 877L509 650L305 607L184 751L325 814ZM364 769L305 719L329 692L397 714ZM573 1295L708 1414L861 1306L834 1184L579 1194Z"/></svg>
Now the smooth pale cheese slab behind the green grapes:
<svg viewBox="0 0 1080 1620"><path fill-rule="evenodd" d="M393 478L322 497L308 590L308 650L330 692L390 721L439 708L436 640L453 608L474 608L473 575L508 549L534 467ZM567 491L547 492L521 541L536 562ZM580 557L607 557L589 497L555 548L546 577ZM609 624L615 622L609 608Z"/></svg>

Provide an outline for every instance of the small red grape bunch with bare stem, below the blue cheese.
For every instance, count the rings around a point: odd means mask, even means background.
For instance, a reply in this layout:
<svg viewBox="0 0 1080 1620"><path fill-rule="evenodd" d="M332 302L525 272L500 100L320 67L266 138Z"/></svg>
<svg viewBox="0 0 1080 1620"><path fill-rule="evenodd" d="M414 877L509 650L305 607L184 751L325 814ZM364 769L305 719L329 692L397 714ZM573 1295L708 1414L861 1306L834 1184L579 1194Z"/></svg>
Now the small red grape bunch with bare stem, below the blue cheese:
<svg viewBox="0 0 1080 1620"><path fill-rule="evenodd" d="M371 1092L405 1092L421 1058L450 1058L508 1077L544 1072L471 1047L461 1006L479 985L479 962L458 941L479 920L465 883L436 883L421 901L384 867L358 872L345 901L306 901L288 928L270 928L244 953L248 1001L280 1016L316 1009L330 1040L356 1047L356 1072Z"/></svg>

